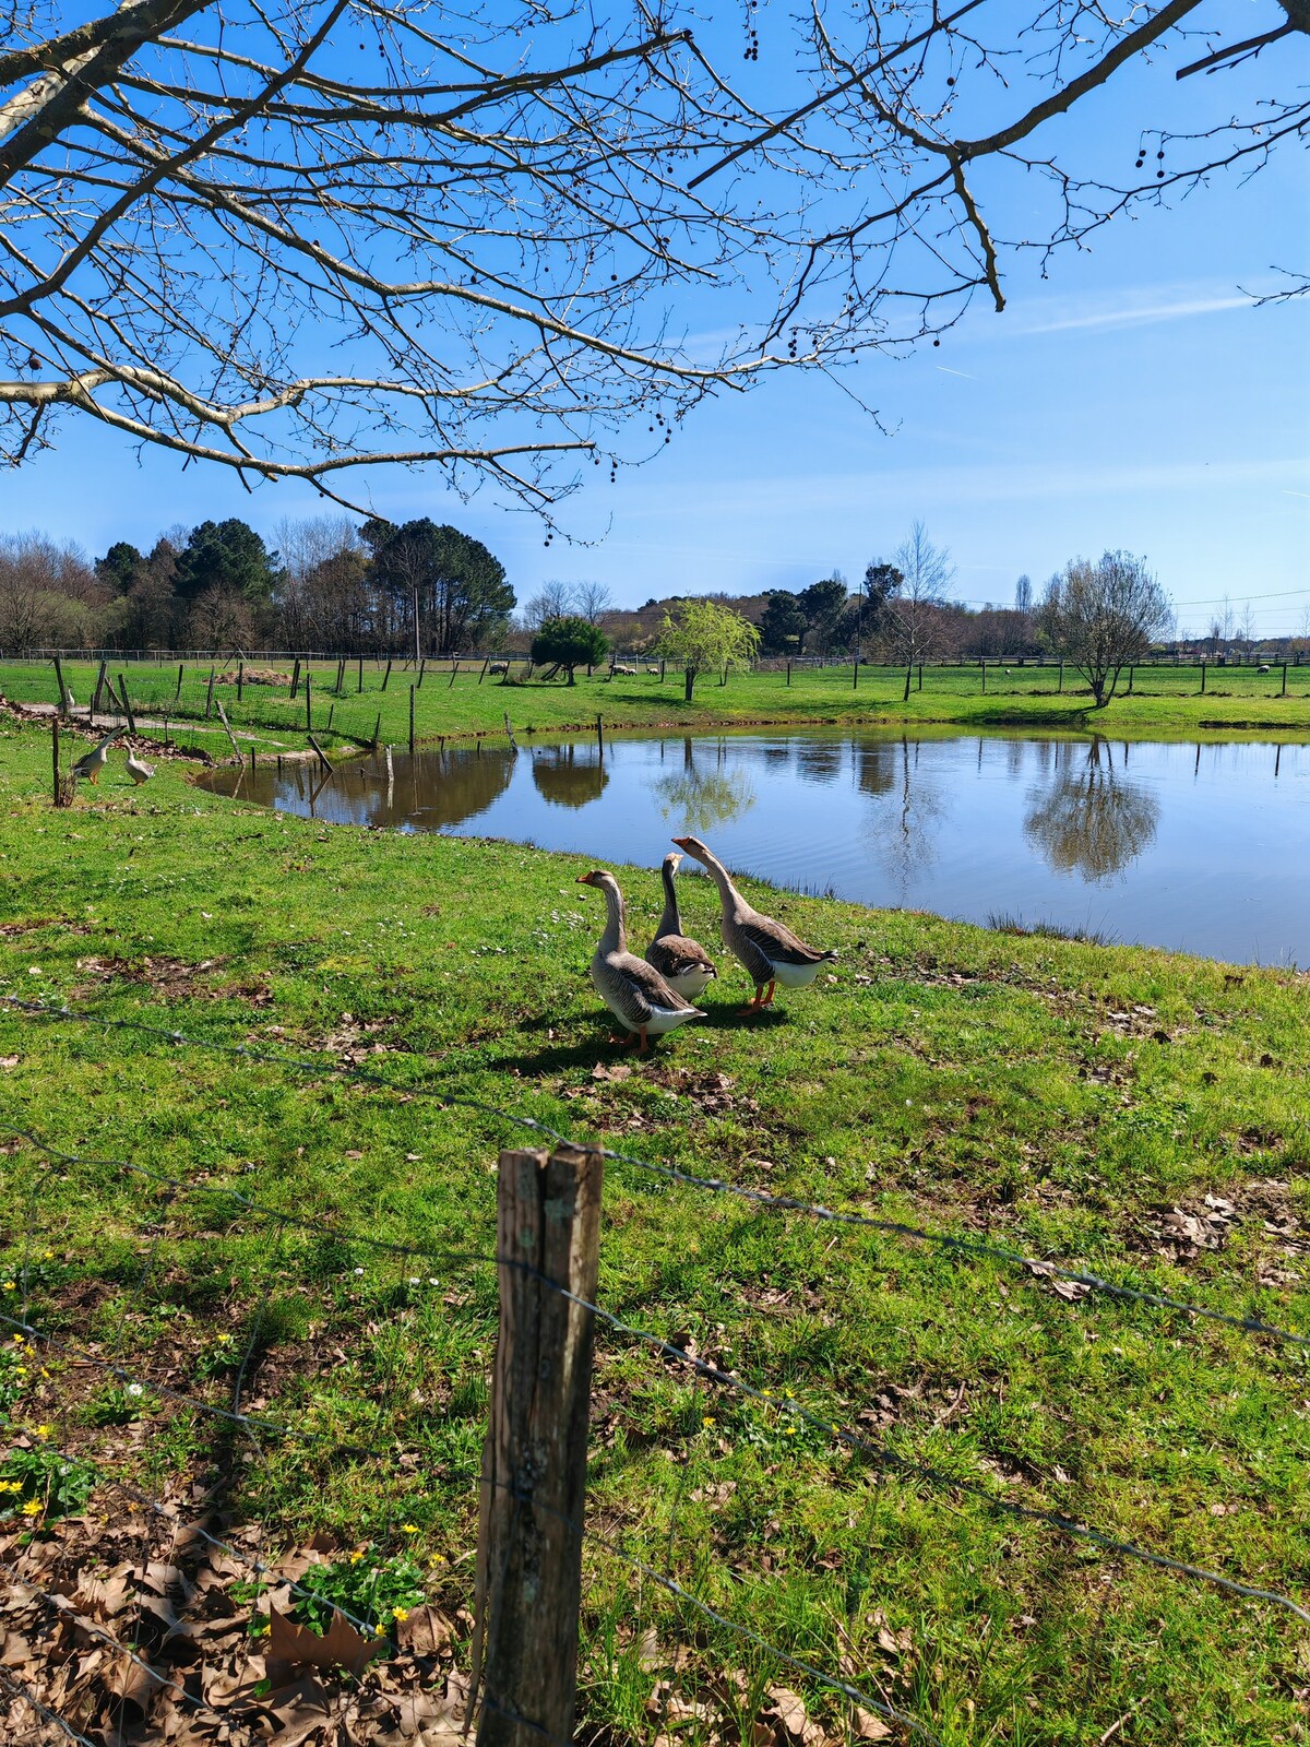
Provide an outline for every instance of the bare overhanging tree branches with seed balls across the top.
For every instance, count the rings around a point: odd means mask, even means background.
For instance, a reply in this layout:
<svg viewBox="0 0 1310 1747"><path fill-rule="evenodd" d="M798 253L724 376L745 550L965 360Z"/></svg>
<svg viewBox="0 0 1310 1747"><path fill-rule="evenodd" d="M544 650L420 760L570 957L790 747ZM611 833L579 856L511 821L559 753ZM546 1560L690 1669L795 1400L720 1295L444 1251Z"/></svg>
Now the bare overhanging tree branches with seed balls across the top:
<svg viewBox="0 0 1310 1747"><path fill-rule="evenodd" d="M1242 42L1212 0L819 5L748 26L767 114L714 66L735 24L645 0L10 5L0 454L65 414L248 482L426 461L548 514L624 428L639 456L706 395L912 346L1003 307L1017 253L1258 168L1310 122L1275 89L1307 0L1258 5ZM1223 72L1265 51L1242 110ZM1219 75L1186 129L1148 103L1132 169L1065 157L1071 108L1170 58Z"/></svg>

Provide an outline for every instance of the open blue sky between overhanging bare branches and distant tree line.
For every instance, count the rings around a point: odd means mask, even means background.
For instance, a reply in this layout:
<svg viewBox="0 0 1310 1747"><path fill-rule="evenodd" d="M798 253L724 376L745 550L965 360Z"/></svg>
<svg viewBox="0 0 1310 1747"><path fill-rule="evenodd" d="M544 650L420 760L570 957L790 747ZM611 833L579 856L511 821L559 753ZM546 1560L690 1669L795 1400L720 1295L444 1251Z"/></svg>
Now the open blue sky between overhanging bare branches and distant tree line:
<svg viewBox="0 0 1310 1747"><path fill-rule="evenodd" d="M1310 77L1310 44L1294 38L1284 89L1293 65ZM1258 75L1259 63L1231 79ZM1141 80L1125 80L1067 124L1069 147L1090 129L1135 138L1141 108ZM489 496L463 505L437 473L374 477L372 505L466 528L521 599L555 577L599 578L620 604L802 587L835 566L854 578L917 517L950 549L961 599L1010 603L1022 571L1039 585L1069 557L1127 547L1158 571L1182 629L1200 631L1224 594L1238 613L1254 603L1261 632L1301 629L1310 297L1254 307L1245 293L1275 288L1273 267L1310 267L1308 217L1293 145L1245 187L1219 178L1057 255L1045 283L1011 266L1003 314L978 304L940 349L851 370L886 430L816 377L727 395L618 484L587 468L561 515L573 547L547 549L531 517ZM91 554L222 515L272 538L281 517L320 512L309 487L248 494L227 473L138 458L73 421L54 452L0 480L0 526L44 528Z"/></svg>

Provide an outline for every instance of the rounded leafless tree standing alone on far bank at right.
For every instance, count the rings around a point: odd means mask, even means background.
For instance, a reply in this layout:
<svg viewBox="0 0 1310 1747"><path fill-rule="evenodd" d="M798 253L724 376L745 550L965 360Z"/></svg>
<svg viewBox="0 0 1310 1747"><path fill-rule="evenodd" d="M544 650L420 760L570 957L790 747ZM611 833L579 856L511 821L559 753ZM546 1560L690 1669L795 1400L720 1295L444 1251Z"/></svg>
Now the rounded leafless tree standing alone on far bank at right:
<svg viewBox="0 0 1310 1747"><path fill-rule="evenodd" d="M1074 559L1051 577L1041 604L1043 631L1092 687L1097 709L1114 697L1123 669L1172 622L1169 596L1146 559L1132 552L1106 552L1097 563Z"/></svg>

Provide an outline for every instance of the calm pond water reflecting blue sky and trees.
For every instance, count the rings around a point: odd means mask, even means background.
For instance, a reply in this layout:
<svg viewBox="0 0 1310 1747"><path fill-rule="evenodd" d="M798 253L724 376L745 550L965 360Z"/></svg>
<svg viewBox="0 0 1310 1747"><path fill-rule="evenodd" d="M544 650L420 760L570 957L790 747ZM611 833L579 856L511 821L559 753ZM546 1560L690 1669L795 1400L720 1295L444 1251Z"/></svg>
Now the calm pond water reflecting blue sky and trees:
<svg viewBox="0 0 1310 1747"><path fill-rule="evenodd" d="M690 832L802 891L1310 964L1310 746L755 730L395 753L390 779L384 756L267 763L206 786L596 865L658 867Z"/></svg>

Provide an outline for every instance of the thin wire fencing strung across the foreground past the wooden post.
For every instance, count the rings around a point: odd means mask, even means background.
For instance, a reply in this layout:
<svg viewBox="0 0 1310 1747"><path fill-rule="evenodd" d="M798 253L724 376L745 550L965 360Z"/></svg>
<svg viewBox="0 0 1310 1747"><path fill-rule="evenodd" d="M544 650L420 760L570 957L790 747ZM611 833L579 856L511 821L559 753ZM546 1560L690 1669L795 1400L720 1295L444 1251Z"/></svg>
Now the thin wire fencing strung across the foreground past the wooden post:
<svg viewBox="0 0 1310 1747"><path fill-rule="evenodd" d="M403 1094L405 1097L423 1097L442 1108L475 1111L494 1123L529 1134L534 1139L575 1144L568 1134L524 1111L507 1109L479 1099L449 1094L442 1087L423 1080L402 1080L391 1074L339 1064L337 1060L297 1057L255 1048L248 1043L197 1038L171 1027L150 1025L141 1020L126 1020L63 1005L56 1006L49 1003L26 1001L16 996L0 996L0 1006L19 1013L31 1022L126 1029L152 1036L159 1043L178 1050L213 1052L259 1062L260 1066L278 1067L281 1071L314 1074L318 1080L332 1078L337 1081L356 1083L370 1090L386 1090L390 1094ZM496 1268L498 1272L507 1268L527 1272L541 1288L559 1295L562 1300L568 1300L583 1310L594 1319L596 1324L601 1324L608 1331L611 1340L620 1345L627 1345L632 1350L645 1350L679 1371L685 1371L697 1384L723 1392L727 1398L744 1399L755 1403L756 1406L769 1405L769 1408L776 1410L781 1417L786 1417L796 1426L810 1427L824 1440L831 1440L837 1447L849 1452L852 1459L868 1464L870 1469L894 1476L908 1487L922 1488L929 1495L943 1495L955 1501L968 1499L980 1506L985 1513L997 1518L1031 1523L1043 1530L1055 1532L1065 1541L1093 1546L1097 1551L1111 1555L1116 1560L1130 1560L1169 1572L1182 1581L1205 1585L1221 1593L1259 1602L1310 1625L1310 1611L1287 1593L1249 1583L1242 1576L1212 1571L1203 1565L1176 1558L1172 1553L1165 1553L1151 1546L1137 1544L1099 1527L1093 1522L1081 1520L1058 1509L1048 1509L1045 1506L1024 1502L1022 1499L1006 1497L999 1487L973 1478L971 1474L952 1471L941 1462L910 1457L901 1450L891 1448L887 1441L870 1438L865 1431L852 1424L833 1420L814 1412L810 1406L789 1398L786 1391L749 1382L735 1370L709 1363L695 1350L688 1350L690 1343L679 1345L650 1328L643 1328L638 1322L615 1314L601 1302L599 1296L590 1298L568 1291L557 1281L547 1279L540 1270L531 1268L524 1261L498 1253L494 1246L475 1247L431 1242L395 1242L372 1232L358 1230L353 1225L335 1225L321 1218L309 1218L295 1211L269 1205L243 1190L225 1183L210 1181L208 1177L185 1179L145 1165L140 1160L105 1158L94 1153L70 1151L68 1148L52 1144L37 1129L24 1123L5 1122L2 1129L3 1134L10 1137L10 1150L12 1143L19 1143L21 1146L31 1150L33 1155L40 1155L47 1165L54 1165L65 1174L79 1174L87 1181L98 1181L105 1172L119 1174L126 1179L140 1183L145 1193L154 1198L154 1205L143 1209L143 1212L150 1214L150 1219L145 1223L145 1254L134 1279L122 1288L114 1328L98 1336L70 1335L63 1326L72 1319L68 1305L56 1305L54 1302L49 1302L45 1305L45 1314L40 1310L42 1296L49 1300L49 1295L42 1295L38 1279L40 1261L37 1254L42 1242L44 1202L40 1190L44 1174L38 1170L28 1172L26 1193L19 1197L17 1209L14 1209L10 1198L10 1223L17 1233L16 1240L10 1242L10 1251L14 1253L10 1268L14 1274L12 1286L16 1288L14 1296L17 1302L5 1303L0 1309L0 1326L10 1329L12 1335L24 1347L33 1349L33 1352L38 1350L42 1356L63 1361L66 1366L77 1366L82 1371L96 1373L107 1384L112 1384L112 1387L133 1396L134 1399L157 1398L159 1401L169 1403L178 1412L199 1415L201 1420L215 1424L225 1434L239 1436L245 1460L260 1466L265 1473L269 1473L267 1445L272 1441L281 1441L292 1452L320 1450L325 1454L325 1459L330 1460L346 1459L379 1466L384 1464L393 1454L393 1443L388 1441L386 1433L386 1410L388 1392L396 1387L395 1371L383 1382L377 1392L376 1436L372 1438L355 1434L342 1436L341 1431L309 1424L304 1415L299 1417L299 1420L290 1417L278 1419L246 1401L248 1380L257 1370L260 1340L274 1293L274 1282L279 1277L283 1240L288 1233L300 1233L314 1244L332 1240L349 1246L351 1249L370 1251L376 1256L384 1258L390 1265L416 1263L423 1260L440 1268L470 1267ZM1188 1322L1210 1321L1252 1336L1289 1343L1291 1347L1310 1345L1310 1336L1296 1329L1273 1324L1263 1317L1245 1315L1216 1305L1191 1303L1158 1293L1142 1284L1106 1279L1104 1275L1092 1274L1071 1263L1050 1261L1046 1258L1024 1254L1018 1249L996 1246L971 1237L931 1232L903 1221L879 1219L856 1211L810 1204L784 1195L772 1195L744 1184L735 1184L728 1179L686 1172L672 1164L641 1158L639 1155L629 1151L611 1148L597 1148L596 1151L603 1151L603 1157L618 1167L643 1172L688 1191L732 1197L742 1204L756 1207L767 1216L810 1219L851 1232L868 1232L898 1242L929 1246L947 1253L952 1260L959 1260L961 1263L1001 1263L1003 1267L1015 1268L1022 1279L1032 1284L1039 1284L1043 1281L1062 1281L1074 1284L1086 1293L1099 1293L1111 1302L1130 1302L1149 1310L1158 1310L1174 1319L1174 1326L1177 1326L1176 1319L1179 1317L1188 1319ZM201 1387L176 1387L176 1380L162 1382L154 1371L148 1352L141 1361L128 1350L129 1322L134 1314L140 1314L148 1305L152 1282L157 1277L166 1247L175 1237L178 1218L187 1204L196 1200L204 1202L203 1211L206 1212L215 1202L225 1204L232 1211L232 1216L243 1221L239 1235L248 1235L250 1230L259 1226L267 1237L259 1251L262 1261L262 1289L255 1309L248 1317L246 1340L239 1359L225 1368L225 1377L231 1382L225 1401L211 1399L211 1394L215 1392L213 1389L206 1394ZM45 1326L47 1317L54 1317L59 1326ZM68 1464L70 1469L87 1467L86 1457L77 1450L68 1448L72 1419L66 1410L63 1412L63 1420L65 1431L58 1440L52 1436L52 1427L42 1427L44 1436L40 1438L38 1447L45 1452L45 1460L54 1466ZM227 1558L245 1565L255 1581L269 1578L274 1571L274 1562L267 1560L260 1550L252 1551L250 1548L243 1548L234 1541L215 1534L210 1527L206 1527L210 1518L204 1515L183 1523L176 1504L161 1502L150 1492L133 1485L121 1474L115 1474L108 1464L93 1460L89 1464L87 1480L94 1481L98 1492L103 1488L105 1492L115 1492L122 1499L131 1501L138 1511L143 1511L152 1520L171 1527L175 1534L185 1527L189 1537L194 1537L213 1551L222 1551ZM449 1488L452 1497L459 1497L461 1494L477 1495L489 1485L486 1469L473 1469L470 1466L458 1466L451 1462L440 1464L438 1480L444 1488ZM496 1481L491 1481L491 1485L494 1487ZM515 1488L512 1495L515 1513L521 1506L540 1506L540 1501L536 1501L527 1490L519 1492ZM38 1516L40 1511L33 1511L30 1515ZM706 1621L709 1626L714 1626L730 1639L749 1646L770 1663L802 1675L816 1689L826 1691L835 1700L858 1705L872 1716L882 1717L889 1726L901 1730L903 1735L940 1742L940 1737L922 1716L915 1714L914 1709L891 1702L886 1693L870 1691L868 1682L852 1679L849 1668L833 1670L831 1667L824 1667L816 1658L796 1654L795 1649L767 1639L749 1625L735 1621L721 1607L713 1605L711 1600L697 1595L686 1585L679 1583L667 1569L667 1562L665 1569L660 1571L658 1565L652 1562L646 1548L634 1550L629 1544L631 1536L639 1532L638 1529L632 1529L631 1532L615 1532L613 1527L599 1529L594 1523L576 1522L571 1518L566 1522L573 1534L596 1548L603 1557L611 1558L617 1567L627 1571L634 1581L655 1585L655 1588L676 1600L679 1607L690 1609L692 1614ZM643 1553L646 1557L643 1557ZM10 1588L10 1595L17 1593L21 1597L28 1597L30 1593L35 1612L47 1618L52 1630L68 1625L70 1604L66 1595L59 1595L37 1583L33 1574L24 1572L21 1564L7 1564L0 1560L0 1571L9 1578L10 1586L17 1586ZM297 1597L297 1600L306 1599L311 1593L299 1583L299 1579L279 1581L286 1583L290 1595ZM377 1619L367 1619L353 1614L349 1609L339 1611L342 1618L355 1626L362 1639L369 1639L369 1635L376 1633L379 1628ZM231 1710L208 1703L185 1679L175 1681L168 1672L164 1672L166 1665L161 1667L161 1658L141 1654L140 1647L122 1642L94 1621L86 1621L82 1614L79 1614L77 1619L80 1632L86 1632L89 1639L101 1644L107 1653L124 1658L124 1667L134 1668L136 1674L148 1682L150 1691L171 1693L173 1702L183 1712L196 1716L204 1714L210 1721L218 1719L224 1728L232 1726ZM489 1635L494 1637L494 1623L489 1625ZM54 1730L58 1737L82 1742L86 1747L105 1747L108 1735L100 1723L93 1728L80 1717L70 1719L61 1714L58 1707L47 1702L47 1693L33 1689L14 1672L12 1667L5 1667L3 1663L0 1663L0 1686L3 1686L16 1703L28 1705L31 1716L40 1717L42 1723L49 1730ZM480 1714L484 1716L508 1716L515 1726L522 1726L529 1733L545 1733L547 1738L557 1738L548 1731L538 1730L519 1710L507 1712L500 1705L496 1693L487 1693L486 1689L480 1691L477 1695L477 1703L480 1707ZM86 1733L86 1730L91 1730L91 1733ZM234 1738L239 1740L241 1735L236 1735ZM259 1738L253 1724L250 1726L248 1738Z"/></svg>

